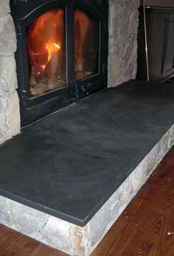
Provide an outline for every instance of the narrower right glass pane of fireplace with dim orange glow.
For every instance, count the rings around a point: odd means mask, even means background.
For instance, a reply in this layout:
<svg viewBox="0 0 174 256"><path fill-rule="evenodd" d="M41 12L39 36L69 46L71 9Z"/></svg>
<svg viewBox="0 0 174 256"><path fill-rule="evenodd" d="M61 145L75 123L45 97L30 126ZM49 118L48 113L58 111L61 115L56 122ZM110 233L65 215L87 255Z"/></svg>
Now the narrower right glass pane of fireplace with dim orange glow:
<svg viewBox="0 0 174 256"><path fill-rule="evenodd" d="M75 79L99 72L99 23L80 9L74 12Z"/></svg>

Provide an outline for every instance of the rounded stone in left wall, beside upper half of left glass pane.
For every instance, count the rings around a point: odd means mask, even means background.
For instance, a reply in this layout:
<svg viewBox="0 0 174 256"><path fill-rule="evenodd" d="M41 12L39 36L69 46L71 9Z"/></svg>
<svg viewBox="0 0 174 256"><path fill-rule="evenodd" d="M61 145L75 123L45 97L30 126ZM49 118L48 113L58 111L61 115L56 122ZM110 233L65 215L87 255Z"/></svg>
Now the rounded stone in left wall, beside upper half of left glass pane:
<svg viewBox="0 0 174 256"><path fill-rule="evenodd" d="M16 35L13 18L6 15L0 18L0 55L12 55L16 51Z"/></svg>

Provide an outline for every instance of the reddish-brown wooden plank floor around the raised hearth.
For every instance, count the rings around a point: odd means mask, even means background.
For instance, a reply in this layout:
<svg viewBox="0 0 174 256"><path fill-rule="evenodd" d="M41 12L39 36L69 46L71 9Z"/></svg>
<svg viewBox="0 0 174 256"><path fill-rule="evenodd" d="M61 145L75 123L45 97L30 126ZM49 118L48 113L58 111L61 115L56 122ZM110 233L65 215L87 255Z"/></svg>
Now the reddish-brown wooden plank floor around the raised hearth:
<svg viewBox="0 0 174 256"><path fill-rule="evenodd" d="M0 225L0 256L67 256ZM174 256L174 148L91 256Z"/></svg>

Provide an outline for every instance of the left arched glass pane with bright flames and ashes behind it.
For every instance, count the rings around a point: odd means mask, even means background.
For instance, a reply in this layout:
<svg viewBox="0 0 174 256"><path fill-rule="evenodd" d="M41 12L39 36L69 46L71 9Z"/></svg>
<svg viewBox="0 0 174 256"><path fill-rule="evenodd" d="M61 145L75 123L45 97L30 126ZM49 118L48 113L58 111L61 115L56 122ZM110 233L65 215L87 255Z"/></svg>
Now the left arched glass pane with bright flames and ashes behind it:
<svg viewBox="0 0 174 256"><path fill-rule="evenodd" d="M44 13L29 27L29 94L36 97L66 86L65 12Z"/></svg>

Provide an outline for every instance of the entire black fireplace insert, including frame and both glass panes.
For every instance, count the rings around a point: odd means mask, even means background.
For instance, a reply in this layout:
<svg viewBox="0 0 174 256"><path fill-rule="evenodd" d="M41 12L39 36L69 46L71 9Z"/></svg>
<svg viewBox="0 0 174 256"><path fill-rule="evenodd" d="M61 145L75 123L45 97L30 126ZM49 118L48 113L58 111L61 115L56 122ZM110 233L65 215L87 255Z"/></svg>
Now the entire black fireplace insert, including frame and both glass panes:
<svg viewBox="0 0 174 256"><path fill-rule="evenodd" d="M21 125L107 86L107 0L10 1Z"/></svg>

